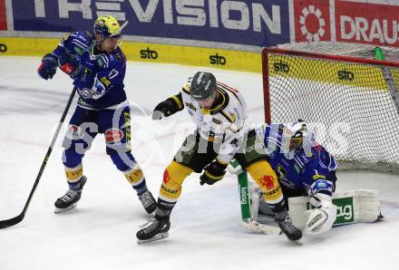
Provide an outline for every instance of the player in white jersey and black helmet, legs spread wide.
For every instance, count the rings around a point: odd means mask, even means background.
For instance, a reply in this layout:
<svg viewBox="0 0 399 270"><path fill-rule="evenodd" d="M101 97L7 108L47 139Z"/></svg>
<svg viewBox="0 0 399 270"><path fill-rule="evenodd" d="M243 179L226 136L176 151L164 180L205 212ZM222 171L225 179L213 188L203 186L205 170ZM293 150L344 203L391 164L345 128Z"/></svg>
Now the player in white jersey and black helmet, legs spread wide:
<svg viewBox="0 0 399 270"><path fill-rule="evenodd" d="M180 197L181 185L192 172L201 173L200 184L213 185L222 179L230 159L237 159L258 183L273 209L277 223L290 240L302 233L286 220L287 208L275 171L257 133L248 124L243 96L217 82L209 72L197 72L182 91L158 104L152 119L159 120L186 109L197 130L183 142L165 169L155 217L136 234L139 243L168 236L170 212Z"/></svg>

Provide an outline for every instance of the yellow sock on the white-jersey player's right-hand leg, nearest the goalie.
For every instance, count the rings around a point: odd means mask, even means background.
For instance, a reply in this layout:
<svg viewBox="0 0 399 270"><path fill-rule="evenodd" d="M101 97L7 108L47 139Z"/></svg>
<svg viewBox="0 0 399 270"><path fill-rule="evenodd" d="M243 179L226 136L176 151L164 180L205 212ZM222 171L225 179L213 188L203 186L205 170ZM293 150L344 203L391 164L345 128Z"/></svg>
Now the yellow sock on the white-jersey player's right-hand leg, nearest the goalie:
<svg viewBox="0 0 399 270"><path fill-rule="evenodd" d="M263 198L270 205L278 205L284 201L283 192L278 183L277 175L274 169L266 160L258 160L249 165L247 171L262 189Z"/></svg>

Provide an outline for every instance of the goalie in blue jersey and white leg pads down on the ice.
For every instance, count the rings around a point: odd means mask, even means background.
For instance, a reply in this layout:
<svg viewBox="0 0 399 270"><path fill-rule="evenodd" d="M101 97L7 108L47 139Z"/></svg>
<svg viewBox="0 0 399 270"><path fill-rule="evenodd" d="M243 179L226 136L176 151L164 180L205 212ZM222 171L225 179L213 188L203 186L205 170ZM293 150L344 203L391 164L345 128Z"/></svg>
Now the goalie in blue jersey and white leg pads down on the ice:
<svg viewBox="0 0 399 270"><path fill-rule="evenodd" d="M316 143L305 121L263 124L256 131L287 199L292 224L303 233L319 235L333 226L373 222L382 217L377 191L335 192L336 160ZM245 226L262 233L278 233L262 191L248 182L247 174L237 164L230 163L229 171L238 174Z"/></svg>

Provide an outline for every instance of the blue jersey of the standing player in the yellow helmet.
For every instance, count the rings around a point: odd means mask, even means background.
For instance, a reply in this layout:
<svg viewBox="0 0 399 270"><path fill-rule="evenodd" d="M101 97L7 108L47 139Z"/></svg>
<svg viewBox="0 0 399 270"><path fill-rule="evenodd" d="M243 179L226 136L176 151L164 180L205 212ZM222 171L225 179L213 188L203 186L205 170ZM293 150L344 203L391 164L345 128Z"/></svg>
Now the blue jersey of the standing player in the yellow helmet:
<svg viewBox="0 0 399 270"><path fill-rule="evenodd" d="M112 53L98 50L94 36L89 32L66 34L54 53L66 53L83 65L83 76L73 81L80 95L78 104L86 109L114 109L126 101L123 79L126 57L121 48Z"/></svg>

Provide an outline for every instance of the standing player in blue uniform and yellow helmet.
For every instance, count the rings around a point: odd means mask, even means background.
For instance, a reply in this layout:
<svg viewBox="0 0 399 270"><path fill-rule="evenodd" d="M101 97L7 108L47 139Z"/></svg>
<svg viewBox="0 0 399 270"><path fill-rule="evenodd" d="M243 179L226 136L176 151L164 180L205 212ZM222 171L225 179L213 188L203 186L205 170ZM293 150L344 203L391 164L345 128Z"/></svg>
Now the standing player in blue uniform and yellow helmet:
<svg viewBox="0 0 399 270"><path fill-rule="evenodd" d="M37 72L52 79L57 68L73 79L78 104L63 140L63 165L69 190L55 201L55 212L76 207L86 177L82 159L98 133L105 136L106 152L131 183L147 213L156 202L131 155L131 116L123 80L126 57L119 44L122 27L111 15L101 16L92 32L66 34L52 53L44 55Z"/></svg>

